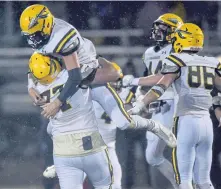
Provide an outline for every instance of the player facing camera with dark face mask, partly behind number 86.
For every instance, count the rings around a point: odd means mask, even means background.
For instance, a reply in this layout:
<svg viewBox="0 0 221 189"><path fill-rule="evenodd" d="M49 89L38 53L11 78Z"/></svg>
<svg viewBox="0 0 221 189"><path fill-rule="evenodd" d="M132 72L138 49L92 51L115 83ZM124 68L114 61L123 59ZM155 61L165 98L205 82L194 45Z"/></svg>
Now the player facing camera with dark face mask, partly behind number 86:
<svg viewBox="0 0 221 189"><path fill-rule="evenodd" d="M171 34L175 29L183 24L182 19L171 13L161 15L153 23L152 27L152 39L156 42L156 45L148 48L144 55L143 61L146 67L144 77L148 76L148 82L145 78L145 85L152 86L152 78L160 79L162 74L160 73L163 60L172 52ZM154 75L152 77L152 75ZM134 78L131 75L123 78L123 86L142 85L142 78ZM140 93L138 88L137 94ZM136 96L136 98L139 98ZM151 108L152 107L152 108ZM169 129L173 125L174 114L174 91L172 87L169 87L165 93L159 98L158 101L150 104L150 109L153 109L152 119L159 121ZM165 149L165 142L156 135L147 131L146 134L148 145L146 148L146 160L156 168L170 181L174 188L177 188L177 184L174 180L174 173L172 164L164 158L163 152Z"/></svg>

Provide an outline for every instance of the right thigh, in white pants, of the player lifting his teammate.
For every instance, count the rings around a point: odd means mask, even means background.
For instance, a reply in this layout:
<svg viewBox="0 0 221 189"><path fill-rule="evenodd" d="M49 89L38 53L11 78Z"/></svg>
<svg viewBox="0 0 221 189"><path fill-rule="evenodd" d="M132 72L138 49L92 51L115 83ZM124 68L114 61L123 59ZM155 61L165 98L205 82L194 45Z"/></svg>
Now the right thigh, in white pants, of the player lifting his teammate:
<svg viewBox="0 0 221 189"><path fill-rule="evenodd" d="M113 169L108 150L84 156L84 172L95 189L109 189L113 183Z"/></svg>

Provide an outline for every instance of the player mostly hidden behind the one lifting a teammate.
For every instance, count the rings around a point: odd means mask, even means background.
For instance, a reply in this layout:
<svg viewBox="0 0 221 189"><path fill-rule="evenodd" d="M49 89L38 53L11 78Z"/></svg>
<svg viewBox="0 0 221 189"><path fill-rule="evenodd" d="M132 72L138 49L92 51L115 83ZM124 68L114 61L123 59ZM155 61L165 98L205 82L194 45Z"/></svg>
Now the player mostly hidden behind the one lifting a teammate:
<svg viewBox="0 0 221 189"><path fill-rule="evenodd" d="M116 63L113 63L116 68L119 68L119 66ZM120 69L119 69L120 70ZM119 96L123 100L124 103L130 103L132 100L132 93L129 88L121 88L119 90L120 84L119 82L113 82L111 85L116 89L117 92L119 92ZM108 148L109 157L111 160L111 164L113 167L113 189L121 189L121 179L122 179L122 170L120 163L118 161L118 157L116 154L116 125L111 121L110 117L106 114L104 109L97 103L96 101L93 101L95 115L98 121L98 130L101 134L105 144ZM54 165L48 167L44 173L44 177L46 178L54 178L56 176L56 170ZM86 177L86 175L85 175Z"/></svg>

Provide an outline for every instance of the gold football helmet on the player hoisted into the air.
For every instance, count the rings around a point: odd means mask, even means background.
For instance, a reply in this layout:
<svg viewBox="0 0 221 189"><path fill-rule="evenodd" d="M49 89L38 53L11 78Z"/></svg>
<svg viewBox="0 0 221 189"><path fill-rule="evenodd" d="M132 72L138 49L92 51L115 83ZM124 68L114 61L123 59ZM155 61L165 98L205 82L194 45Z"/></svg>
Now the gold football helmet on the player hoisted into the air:
<svg viewBox="0 0 221 189"><path fill-rule="evenodd" d="M53 20L54 16L44 5L31 5L22 12L20 16L21 33L32 48L41 48L48 42Z"/></svg>

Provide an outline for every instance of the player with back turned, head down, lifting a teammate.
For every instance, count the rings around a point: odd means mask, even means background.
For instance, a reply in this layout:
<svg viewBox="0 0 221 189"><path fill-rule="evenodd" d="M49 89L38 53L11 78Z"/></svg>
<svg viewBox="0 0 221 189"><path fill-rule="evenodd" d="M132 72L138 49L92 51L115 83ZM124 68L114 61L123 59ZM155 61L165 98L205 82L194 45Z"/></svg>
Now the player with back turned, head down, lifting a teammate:
<svg viewBox="0 0 221 189"><path fill-rule="evenodd" d="M34 53L29 61L33 86L46 102L54 101L68 79L56 59ZM50 72L43 78L40 74ZM84 173L95 188L109 189L112 166L99 134L90 89L79 89L49 120L47 132L53 140L53 156L61 189L82 189Z"/></svg>

